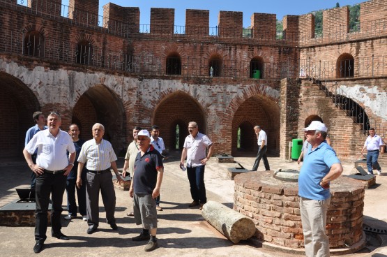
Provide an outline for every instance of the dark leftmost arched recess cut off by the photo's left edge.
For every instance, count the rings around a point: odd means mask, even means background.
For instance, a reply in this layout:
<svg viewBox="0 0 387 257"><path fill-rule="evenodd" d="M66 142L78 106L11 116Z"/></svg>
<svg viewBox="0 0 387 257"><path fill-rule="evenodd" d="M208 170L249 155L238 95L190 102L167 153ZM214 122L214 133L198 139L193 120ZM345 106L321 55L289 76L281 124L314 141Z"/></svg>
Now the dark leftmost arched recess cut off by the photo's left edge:
<svg viewBox="0 0 387 257"><path fill-rule="evenodd" d="M1 71L0 88L0 120L7 121L0 123L0 157L22 156L26 131L35 125L32 115L40 103L21 80Z"/></svg>

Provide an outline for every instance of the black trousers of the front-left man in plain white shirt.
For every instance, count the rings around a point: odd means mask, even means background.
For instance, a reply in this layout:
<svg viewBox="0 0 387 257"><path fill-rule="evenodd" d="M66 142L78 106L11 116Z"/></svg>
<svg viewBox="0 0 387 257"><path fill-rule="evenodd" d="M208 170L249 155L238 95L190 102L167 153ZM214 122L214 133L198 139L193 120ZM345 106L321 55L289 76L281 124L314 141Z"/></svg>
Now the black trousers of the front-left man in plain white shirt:
<svg viewBox="0 0 387 257"><path fill-rule="evenodd" d="M63 175L63 172L57 174L44 172L36 178L36 242L44 242L47 238L47 213L50 194L52 198L51 232L52 234L61 233L62 200L66 188L66 180L67 177Z"/></svg>

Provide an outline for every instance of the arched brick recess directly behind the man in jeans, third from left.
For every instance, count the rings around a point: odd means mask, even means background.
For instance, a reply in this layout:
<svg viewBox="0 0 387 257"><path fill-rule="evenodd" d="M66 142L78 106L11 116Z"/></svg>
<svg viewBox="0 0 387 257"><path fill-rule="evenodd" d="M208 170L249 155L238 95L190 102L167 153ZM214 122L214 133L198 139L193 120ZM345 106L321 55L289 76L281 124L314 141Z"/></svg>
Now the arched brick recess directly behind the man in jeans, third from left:
<svg viewBox="0 0 387 257"><path fill-rule="evenodd" d="M165 96L155 107L152 117L152 125L160 127L160 137L167 149L176 148L176 124L179 124L181 129L179 147L183 147L184 139L188 135L188 122L192 121L197 122L200 133L206 133L206 115L202 106L183 91Z"/></svg>

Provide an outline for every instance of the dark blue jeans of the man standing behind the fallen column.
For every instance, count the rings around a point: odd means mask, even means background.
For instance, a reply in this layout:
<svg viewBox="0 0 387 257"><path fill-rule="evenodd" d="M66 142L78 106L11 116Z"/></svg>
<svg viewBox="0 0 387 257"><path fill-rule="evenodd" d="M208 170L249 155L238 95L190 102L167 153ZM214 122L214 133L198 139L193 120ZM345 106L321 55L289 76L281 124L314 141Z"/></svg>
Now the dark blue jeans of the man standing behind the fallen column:
<svg viewBox="0 0 387 257"><path fill-rule="evenodd" d="M197 203L207 203L206 186L204 185L204 165L187 167L192 199Z"/></svg>

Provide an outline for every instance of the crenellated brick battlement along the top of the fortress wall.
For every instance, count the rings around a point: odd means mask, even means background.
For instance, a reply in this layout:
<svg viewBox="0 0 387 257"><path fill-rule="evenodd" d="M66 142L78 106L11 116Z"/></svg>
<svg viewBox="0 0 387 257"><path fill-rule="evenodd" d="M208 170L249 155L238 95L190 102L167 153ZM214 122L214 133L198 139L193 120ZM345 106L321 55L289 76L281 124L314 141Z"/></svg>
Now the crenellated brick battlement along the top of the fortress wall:
<svg viewBox="0 0 387 257"><path fill-rule="evenodd" d="M0 0L6 5L17 5L16 0ZM374 36L386 32L387 1L371 0L361 3L360 24L355 32L349 28L349 8L323 10L322 31L316 32L315 17L286 15L283 17L283 30L276 31L276 15L253 13L250 31L243 31L243 13L220 10L218 26L209 27L209 10L185 10L185 24L175 24L173 8L151 8L150 24L140 24L138 7L123 7L114 3L103 6L103 15L98 15L99 0L70 0L69 6L61 5L61 0L27 0L26 11L31 13L61 17L61 19L86 26L89 29L105 29L109 34L130 38L137 34L156 35L168 38L181 36L218 36L219 38L250 38L250 41L284 41L307 46L321 43L337 43ZM23 9L24 6L17 5ZM370 31L373 34L370 35Z"/></svg>

